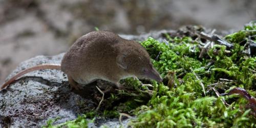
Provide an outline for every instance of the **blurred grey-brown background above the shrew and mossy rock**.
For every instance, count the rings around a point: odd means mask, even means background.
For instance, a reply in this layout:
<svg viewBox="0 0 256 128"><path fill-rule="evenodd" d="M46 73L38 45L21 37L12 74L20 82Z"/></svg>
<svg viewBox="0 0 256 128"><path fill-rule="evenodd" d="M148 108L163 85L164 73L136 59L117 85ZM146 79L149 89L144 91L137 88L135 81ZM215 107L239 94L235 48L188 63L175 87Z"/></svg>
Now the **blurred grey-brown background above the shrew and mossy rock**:
<svg viewBox="0 0 256 128"><path fill-rule="evenodd" d="M137 35L183 25L238 30L255 17L255 0L0 0L0 84L18 63L65 52L95 27Z"/></svg>

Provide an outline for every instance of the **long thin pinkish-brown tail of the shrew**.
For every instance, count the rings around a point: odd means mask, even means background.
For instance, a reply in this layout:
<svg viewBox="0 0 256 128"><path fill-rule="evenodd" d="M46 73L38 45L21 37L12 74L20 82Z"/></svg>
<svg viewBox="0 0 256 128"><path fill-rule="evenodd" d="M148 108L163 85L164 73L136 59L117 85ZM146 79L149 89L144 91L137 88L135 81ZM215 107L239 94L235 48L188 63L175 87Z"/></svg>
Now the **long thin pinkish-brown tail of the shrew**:
<svg viewBox="0 0 256 128"><path fill-rule="evenodd" d="M0 92L7 88L9 86L9 84L11 84L13 81L15 81L18 77L32 72L32 71L36 71L36 70L42 70L42 69L57 69L60 70L60 65L59 64L42 64L42 65L38 65L38 66L34 66L25 70L22 70L20 72L18 72L16 75L14 75L13 77L11 77L7 82L5 82L1 87L0 87Z"/></svg>

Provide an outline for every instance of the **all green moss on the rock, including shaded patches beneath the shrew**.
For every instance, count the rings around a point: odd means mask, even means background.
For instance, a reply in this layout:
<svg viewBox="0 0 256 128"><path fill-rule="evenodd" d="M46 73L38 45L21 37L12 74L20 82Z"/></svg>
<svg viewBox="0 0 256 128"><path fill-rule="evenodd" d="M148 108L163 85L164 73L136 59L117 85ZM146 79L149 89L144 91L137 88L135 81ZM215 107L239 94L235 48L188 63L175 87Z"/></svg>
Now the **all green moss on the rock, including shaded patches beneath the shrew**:
<svg viewBox="0 0 256 128"><path fill-rule="evenodd" d="M234 46L231 50L214 45L204 58L199 58L200 39L195 34L166 34L167 42L162 43L148 38L141 44L163 83L143 81L152 88L141 86L141 81L133 78L124 79L121 83L132 90L106 94L100 111L88 112L87 117L136 115L130 122L132 127L256 127L256 112L246 107L248 101L237 95L225 95L240 87L256 96L256 57L245 52L245 44L255 40L256 33L248 30L256 30L255 23L225 37ZM173 85L169 86L169 81ZM217 92L223 95L217 96ZM54 127L51 124L48 122L48 127ZM58 126L86 127L87 121L81 116Z"/></svg>

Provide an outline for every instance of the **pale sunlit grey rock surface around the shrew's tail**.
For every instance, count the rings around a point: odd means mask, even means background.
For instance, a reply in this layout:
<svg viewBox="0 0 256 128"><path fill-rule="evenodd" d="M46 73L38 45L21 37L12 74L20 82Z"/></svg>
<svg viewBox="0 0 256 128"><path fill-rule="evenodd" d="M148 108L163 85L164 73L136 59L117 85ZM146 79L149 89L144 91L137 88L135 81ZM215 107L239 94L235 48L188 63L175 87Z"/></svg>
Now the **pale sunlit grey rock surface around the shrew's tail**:
<svg viewBox="0 0 256 128"><path fill-rule="evenodd" d="M20 63L8 78L41 63L60 63L62 56L63 53L31 58ZM38 127L57 116L63 117L58 122L75 119L75 101L80 97L69 90L65 81L68 81L67 76L58 70L34 71L24 75L0 93L1 125L5 125L3 117L9 118L12 127Z"/></svg>

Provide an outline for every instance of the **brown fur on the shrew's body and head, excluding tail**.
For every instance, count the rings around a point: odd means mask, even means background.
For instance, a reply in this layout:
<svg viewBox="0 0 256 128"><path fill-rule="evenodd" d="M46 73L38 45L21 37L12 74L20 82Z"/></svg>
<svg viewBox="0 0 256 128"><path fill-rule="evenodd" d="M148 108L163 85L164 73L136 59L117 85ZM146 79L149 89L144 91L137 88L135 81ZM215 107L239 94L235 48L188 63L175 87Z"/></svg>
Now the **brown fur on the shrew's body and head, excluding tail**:
<svg viewBox="0 0 256 128"><path fill-rule="evenodd" d="M127 69L117 64L118 55L124 54L122 62ZM95 79L118 83L120 79L137 76L148 78L141 73L141 68L152 70L150 56L146 50L132 40L126 40L109 31L94 31L83 35L71 46L61 62L61 70L76 82L87 84Z"/></svg>

